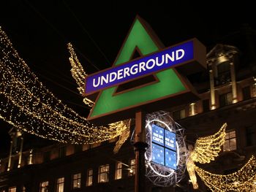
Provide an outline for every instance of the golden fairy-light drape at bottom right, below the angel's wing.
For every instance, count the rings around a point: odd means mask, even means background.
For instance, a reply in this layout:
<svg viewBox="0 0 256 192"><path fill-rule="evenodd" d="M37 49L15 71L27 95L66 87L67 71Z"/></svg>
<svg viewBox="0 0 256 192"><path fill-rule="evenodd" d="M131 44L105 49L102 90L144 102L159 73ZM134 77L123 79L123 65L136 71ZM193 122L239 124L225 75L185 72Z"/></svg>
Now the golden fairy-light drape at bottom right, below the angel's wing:
<svg viewBox="0 0 256 192"><path fill-rule="evenodd" d="M252 191L256 180L256 158L232 174L212 174L195 166L195 171L211 191Z"/></svg>

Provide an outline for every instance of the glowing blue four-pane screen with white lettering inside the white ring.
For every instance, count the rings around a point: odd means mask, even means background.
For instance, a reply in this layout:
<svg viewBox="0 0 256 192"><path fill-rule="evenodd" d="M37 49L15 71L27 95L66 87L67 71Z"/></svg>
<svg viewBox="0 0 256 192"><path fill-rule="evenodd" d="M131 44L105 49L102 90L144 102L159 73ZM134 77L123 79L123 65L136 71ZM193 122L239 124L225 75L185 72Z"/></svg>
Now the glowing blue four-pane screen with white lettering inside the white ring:
<svg viewBox="0 0 256 192"><path fill-rule="evenodd" d="M152 160L154 163L168 166L176 170L176 134L157 126L151 125L152 136Z"/></svg>

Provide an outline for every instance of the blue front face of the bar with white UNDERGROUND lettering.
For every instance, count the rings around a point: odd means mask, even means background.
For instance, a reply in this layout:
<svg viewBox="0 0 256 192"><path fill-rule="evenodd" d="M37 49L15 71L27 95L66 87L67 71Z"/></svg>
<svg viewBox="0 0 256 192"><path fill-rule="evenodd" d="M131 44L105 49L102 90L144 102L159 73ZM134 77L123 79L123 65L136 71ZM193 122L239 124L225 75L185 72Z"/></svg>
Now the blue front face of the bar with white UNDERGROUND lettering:
<svg viewBox="0 0 256 192"><path fill-rule="evenodd" d="M114 85L190 61L194 58L194 52L195 47L193 40L191 40L126 64L106 69L97 74L91 74L86 77L85 93L89 95L104 88L113 87Z"/></svg>

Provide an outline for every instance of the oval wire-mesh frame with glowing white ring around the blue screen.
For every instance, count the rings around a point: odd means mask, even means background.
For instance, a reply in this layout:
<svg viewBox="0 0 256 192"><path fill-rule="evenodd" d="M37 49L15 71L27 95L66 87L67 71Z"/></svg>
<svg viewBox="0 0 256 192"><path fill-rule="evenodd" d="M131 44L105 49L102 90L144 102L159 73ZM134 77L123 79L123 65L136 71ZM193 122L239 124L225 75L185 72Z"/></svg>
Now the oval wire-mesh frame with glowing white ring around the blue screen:
<svg viewBox="0 0 256 192"><path fill-rule="evenodd" d="M162 128L165 128L167 131L176 134L175 141L175 151L176 155L171 156L170 153L166 153L164 148L162 148L162 153L165 154L165 161L168 161L169 158L174 164L176 169L172 169L170 166L164 166L163 164L154 162L154 155L159 156L159 153L153 153L152 148L154 142L152 142L152 126L157 125ZM151 180L154 185L159 186L170 186L175 185L180 182L184 177L184 172L186 171L186 160L187 160L187 147L184 142L184 128L182 128L178 123L174 122L174 120L170 117L168 112L159 111L148 114L146 116L146 142L148 144L148 148L145 153L146 159L146 177L148 180ZM165 142L167 140L165 139ZM174 158L174 159L172 159ZM174 161L173 161L174 160Z"/></svg>

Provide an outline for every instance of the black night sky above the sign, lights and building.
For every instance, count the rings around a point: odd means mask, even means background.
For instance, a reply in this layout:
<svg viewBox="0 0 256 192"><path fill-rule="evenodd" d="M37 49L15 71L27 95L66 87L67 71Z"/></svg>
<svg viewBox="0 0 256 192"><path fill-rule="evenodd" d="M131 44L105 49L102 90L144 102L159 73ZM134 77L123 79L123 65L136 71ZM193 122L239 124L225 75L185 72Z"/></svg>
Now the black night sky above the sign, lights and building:
<svg viewBox="0 0 256 192"><path fill-rule="evenodd" d="M50 91L80 115L89 110L70 73L68 42L90 74L112 66L137 14L165 46L196 37L210 50L237 34L244 24L256 29L250 1L104 2L1 1L0 5L0 26L20 57ZM0 155L9 145L10 128L0 120Z"/></svg>

